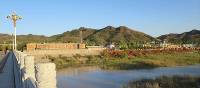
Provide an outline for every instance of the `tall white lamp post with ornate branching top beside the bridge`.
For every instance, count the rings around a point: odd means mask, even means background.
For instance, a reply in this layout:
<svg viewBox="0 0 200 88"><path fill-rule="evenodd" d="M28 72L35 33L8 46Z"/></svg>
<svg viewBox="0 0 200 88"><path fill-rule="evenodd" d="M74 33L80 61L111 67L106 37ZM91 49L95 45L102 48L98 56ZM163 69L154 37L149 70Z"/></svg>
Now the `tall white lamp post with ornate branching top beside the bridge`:
<svg viewBox="0 0 200 88"><path fill-rule="evenodd" d="M7 19L10 19L14 26L14 34L15 34L14 50L17 50L16 23L17 23L17 20L22 19L22 17L18 16L15 12L13 12L11 15L7 16Z"/></svg>

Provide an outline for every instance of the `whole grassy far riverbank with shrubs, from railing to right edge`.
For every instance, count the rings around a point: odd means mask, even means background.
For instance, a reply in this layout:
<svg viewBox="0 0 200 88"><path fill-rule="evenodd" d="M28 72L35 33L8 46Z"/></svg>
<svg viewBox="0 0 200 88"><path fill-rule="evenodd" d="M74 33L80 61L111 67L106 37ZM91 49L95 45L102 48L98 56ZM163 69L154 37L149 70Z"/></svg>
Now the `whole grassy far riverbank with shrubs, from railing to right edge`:
<svg viewBox="0 0 200 88"><path fill-rule="evenodd" d="M106 52L107 54L107 52ZM200 64L199 51L184 51L184 52L161 52L156 54L145 54L134 57L127 55L121 56L106 56L105 52L102 55L81 56L74 55L73 57L58 57L48 56L51 62L54 62L57 69L72 67L72 66L99 66L102 69L148 69L156 67L173 67Z"/></svg>

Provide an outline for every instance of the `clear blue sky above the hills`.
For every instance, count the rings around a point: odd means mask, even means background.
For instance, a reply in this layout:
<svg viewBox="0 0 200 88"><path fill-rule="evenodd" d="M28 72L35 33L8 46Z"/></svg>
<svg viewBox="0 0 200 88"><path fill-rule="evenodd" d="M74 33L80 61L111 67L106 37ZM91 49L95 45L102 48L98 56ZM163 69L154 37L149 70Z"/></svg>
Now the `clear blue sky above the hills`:
<svg viewBox="0 0 200 88"><path fill-rule="evenodd" d="M200 0L0 0L0 33L51 36L79 27L127 26L151 36L200 30Z"/></svg>

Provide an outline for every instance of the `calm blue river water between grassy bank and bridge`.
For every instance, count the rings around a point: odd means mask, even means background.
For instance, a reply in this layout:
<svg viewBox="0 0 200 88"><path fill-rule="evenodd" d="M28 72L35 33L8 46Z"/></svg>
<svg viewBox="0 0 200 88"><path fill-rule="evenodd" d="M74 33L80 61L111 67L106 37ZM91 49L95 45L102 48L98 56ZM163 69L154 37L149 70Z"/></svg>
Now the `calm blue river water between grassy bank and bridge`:
<svg viewBox="0 0 200 88"><path fill-rule="evenodd" d="M98 67L67 68L57 72L58 88L121 88L130 80L163 75L200 76L200 65L161 67L148 70L101 70Z"/></svg>

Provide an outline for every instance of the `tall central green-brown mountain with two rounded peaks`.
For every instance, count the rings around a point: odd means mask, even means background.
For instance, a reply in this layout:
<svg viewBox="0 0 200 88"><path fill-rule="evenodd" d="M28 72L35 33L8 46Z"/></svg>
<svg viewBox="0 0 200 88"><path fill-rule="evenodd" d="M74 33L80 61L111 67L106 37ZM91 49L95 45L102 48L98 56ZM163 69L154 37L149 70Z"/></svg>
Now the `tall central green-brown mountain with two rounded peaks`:
<svg viewBox="0 0 200 88"><path fill-rule="evenodd" d="M150 42L156 39L139 31L135 31L125 26L107 26L96 30L93 34L84 39L89 45L106 45L110 43L134 43Z"/></svg>

